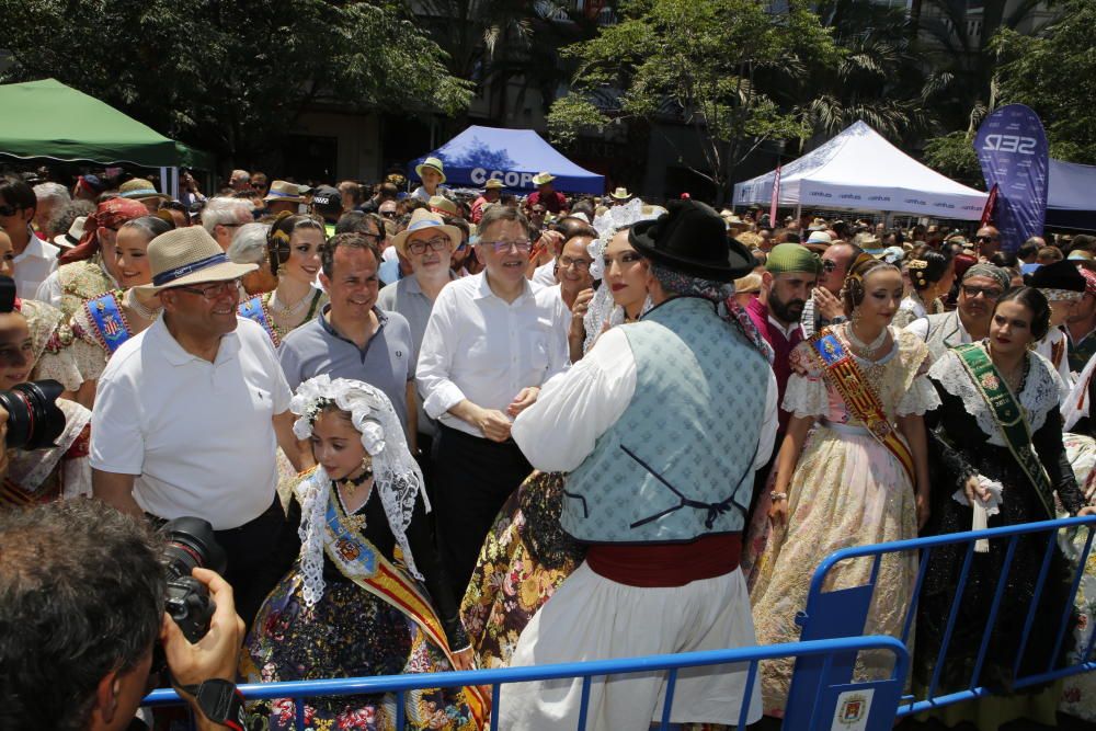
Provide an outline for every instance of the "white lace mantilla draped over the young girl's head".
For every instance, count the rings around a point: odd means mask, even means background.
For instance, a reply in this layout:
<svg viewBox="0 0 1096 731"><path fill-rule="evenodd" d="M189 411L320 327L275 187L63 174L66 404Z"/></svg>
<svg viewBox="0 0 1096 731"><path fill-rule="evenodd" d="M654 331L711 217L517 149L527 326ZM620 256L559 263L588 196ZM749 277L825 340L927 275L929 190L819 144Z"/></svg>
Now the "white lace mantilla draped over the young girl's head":
<svg viewBox="0 0 1096 731"><path fill-rule="evenodd" d="M423 491L422 472L408 450L391 401L383 391L359 380L332 379L327 375L306 380L289 401L289 410L299 416L293 424L293 433L298 439L311 437L316 418L329 406L350 412L351 423L361 433L362 446L373 458L373 489L380 495L380 504L408 571L421 581L422 574L408 544L407 528L419 493L422 493L427 512L430 502ZM323 596L323 534L330 496L331 478L318 467L304 486L301 519L297 528L305 581L302 594L309 606Z"/></svg>

